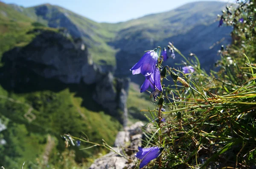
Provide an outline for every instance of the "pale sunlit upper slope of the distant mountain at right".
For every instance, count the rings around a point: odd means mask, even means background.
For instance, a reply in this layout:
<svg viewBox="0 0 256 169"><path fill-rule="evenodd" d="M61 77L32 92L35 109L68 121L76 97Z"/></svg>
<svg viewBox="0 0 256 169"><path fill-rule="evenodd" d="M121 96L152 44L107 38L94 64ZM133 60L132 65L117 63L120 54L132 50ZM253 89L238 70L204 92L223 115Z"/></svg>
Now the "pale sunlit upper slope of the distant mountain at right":
<svg viewBox="0 0 256 169"><path fill-rule="evenodd" d="M128 31L129 28L140 28L140 31L146 29L154 32L153 38L159 40L163 37L186 33L198 24L212 23L225 5L226 3L216 1L188 3L171 11L120 23L120 27L123 31ZM131 31L134 30L131 29Z"/></svg>

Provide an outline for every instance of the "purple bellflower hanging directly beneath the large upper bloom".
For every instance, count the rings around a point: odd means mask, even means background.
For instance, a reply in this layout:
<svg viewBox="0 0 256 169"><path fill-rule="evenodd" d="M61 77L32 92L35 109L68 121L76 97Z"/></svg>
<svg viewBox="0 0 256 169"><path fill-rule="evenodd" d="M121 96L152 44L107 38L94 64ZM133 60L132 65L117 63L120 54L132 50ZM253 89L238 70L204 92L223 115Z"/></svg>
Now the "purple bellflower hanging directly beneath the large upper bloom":
<svg viewBox="0 0 256 169"><path fill-rule="evenodd" d="M157 66L154 66L154 70L150 76L145 76L145 81L140 87L140 93L145 92L149 86L153 90L151 95L154 96L154 100L156 100L158 93L163 91L160 81L160 70L157 68Z"/></svg>

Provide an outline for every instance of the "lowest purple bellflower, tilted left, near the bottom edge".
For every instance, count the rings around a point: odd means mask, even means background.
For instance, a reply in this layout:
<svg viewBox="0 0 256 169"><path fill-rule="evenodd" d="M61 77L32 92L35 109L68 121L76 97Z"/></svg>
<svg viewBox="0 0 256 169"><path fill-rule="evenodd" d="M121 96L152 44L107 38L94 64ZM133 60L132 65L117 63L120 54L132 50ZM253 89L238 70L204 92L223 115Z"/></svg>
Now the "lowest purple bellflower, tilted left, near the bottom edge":
<svg viewBox="0 0 256 169"><path fill-rule="evenodd" d="M143 149L139 146L138 149L139 149L139 152L135 154L135 157L142 160L140 162L140 169L146 166L149 163L149 161L157 158L163 151L163 148L159 148L157 146L146 148L146 149Z"/></svg>

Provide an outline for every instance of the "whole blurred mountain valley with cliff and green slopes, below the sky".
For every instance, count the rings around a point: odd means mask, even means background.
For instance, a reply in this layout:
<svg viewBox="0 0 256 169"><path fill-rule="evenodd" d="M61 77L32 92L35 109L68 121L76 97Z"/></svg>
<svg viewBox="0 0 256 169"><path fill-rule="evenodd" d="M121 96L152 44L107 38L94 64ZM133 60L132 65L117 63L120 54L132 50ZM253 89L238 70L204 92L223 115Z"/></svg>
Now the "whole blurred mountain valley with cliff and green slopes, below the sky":
<svg viewBox="0 0 256 169"><path fill-rule="evenodd" d="M144 80L131 76L129 70L143 51L166 47L171 41L184 55L197 54L209 71L220 45L231 41L231 28L219 29L215 22L225 5L189 3L110 24L50 4L24 8L0 2L0 122L6 126L0 131L6 141L0 145L3 165L17 168L24 159L42 160L51 140L56 145L49 156L65 152L59 136L64 133L81 136L84 132L91 141L103 138L113 143L121 124L127 124L128 112L132 118L139 117L139 110L150 104L128 79L138 84ZM177 55L166 65L180 62ZM36 149L34 155L30 149ZM79 162L99 152L70 149L76 150ZM54 165L50 160L40 165L45 163Z"/></svg>

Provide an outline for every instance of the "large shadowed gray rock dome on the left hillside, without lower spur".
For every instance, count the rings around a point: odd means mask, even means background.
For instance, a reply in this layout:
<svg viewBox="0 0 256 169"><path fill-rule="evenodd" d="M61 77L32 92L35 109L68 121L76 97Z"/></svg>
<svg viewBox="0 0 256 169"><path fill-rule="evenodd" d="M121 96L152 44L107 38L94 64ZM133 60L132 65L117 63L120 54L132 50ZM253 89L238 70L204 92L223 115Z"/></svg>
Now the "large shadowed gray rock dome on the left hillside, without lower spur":
<svg viewBox="0 0 256 169"><path fill-rule="evenodd" d="M41 65L32 67L32 70L45 78L56 78L67 84L83 81L90 85L102 78L81 39L73 42L68 36L54 31L34 31L39 35L29 45L14 48L4 57L12 62L22 59Z"/></svg>

